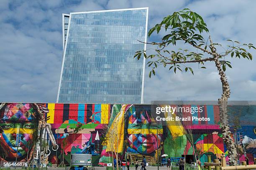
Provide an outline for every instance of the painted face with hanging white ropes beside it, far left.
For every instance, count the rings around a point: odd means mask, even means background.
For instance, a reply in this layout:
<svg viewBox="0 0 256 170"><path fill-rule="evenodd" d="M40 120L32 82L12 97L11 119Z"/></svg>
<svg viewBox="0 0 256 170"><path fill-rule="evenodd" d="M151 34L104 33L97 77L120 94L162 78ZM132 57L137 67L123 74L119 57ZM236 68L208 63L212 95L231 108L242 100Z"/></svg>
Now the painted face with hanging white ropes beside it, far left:
<svg viewBox="0 0 256 170"><path fill-rule="evenodd" d="M41 162L48 162L49 141L53 145L52 150L58 147L51 132L51 126L45 123L44 115L48 109L38 104L2 103L0 105L0 147L1 160L27 162L33 157L38 157L41 147ZM47 145L40 145L40 132ZM47 129L47 130L46 130ZM46 132L48 131L48 132ZM17 136L20 142L17 143Z"/></svg>

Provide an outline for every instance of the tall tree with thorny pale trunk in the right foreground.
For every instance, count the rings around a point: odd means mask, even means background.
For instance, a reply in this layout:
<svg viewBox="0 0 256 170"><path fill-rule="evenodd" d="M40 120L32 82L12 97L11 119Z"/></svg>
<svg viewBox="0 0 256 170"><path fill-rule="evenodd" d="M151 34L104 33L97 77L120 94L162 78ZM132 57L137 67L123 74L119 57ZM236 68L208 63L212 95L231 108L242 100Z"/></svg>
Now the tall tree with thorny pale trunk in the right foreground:
<svg viewBox="0 0 256 170"><path fill-rule="evenodd" d="M147 63L147 66L151 67L149 77L151 77L152 73L155 75L156 68L159 66L164 66L165 68L168 67L169 70L173 70L174 73L178 70L184 70L185 72L190 71L194 74L193 69L184 64L198 63L198 65L202 66L206 62L215 63L215 67L220 75L223 92L220 99L218 99L223 140L225 141L229 152L230 165L237 165L236 148L230 137L231 132L228 126L227 104L228 98L230 97L230 87L225 70L227 66L232 68L230 61L227 60L228 56L231 56L231 58L246 58L252 60L252 55L246 48L256 48L251 43L241 44L238 41L232 40L228 40L230 45L228 45L227 48L223 48L219 43L213 43L207 25L202 17L187 8L165 17L160 24L156 24L155 27L148 31L148 36L151 36L155 31L159 33L162 28L165 29L167 34L161 38L161 41L158 43L147 43L156 46L156 48L148 49L154 50L155 54L147 55L146 51L148 50L137 51L134 57L140 59L141 56L144 56L149 60ZM178 41L189 44L196 52L182 48L175 51L168 51L166 49L167 47L175 46ZM219 48L223 48L224 51L219 52ZM201 51L202 53L198 53L198 51ZM205 54L207 55L206 57ZM201 69L206 69L206 67L202 66Z"/></svg>

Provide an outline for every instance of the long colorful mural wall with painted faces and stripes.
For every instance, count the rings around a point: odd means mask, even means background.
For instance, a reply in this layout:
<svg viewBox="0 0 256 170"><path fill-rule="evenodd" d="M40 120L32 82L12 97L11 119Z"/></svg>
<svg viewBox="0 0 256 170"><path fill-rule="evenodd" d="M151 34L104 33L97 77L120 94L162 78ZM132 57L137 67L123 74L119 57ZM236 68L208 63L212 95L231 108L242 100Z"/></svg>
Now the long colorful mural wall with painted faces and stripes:
<svg viewBox="0 0 256 170"><path fill-rule="evenodd" d="M93 156L93 163L103 165L112 162L113 148L104 141L108 136L106 129L114 127L118 127L119 140L114 145L118 157L129 157L132 162L145 156L149 163L154 164L158 161L157 155L163 154L181 157L196 153L201 162L206 161L208 154L213 155L212 158L218 158L223 153L228 155L220 132L218 106L197 107L202 107L202 112L198 110L192 116L208 117L210 121L159 122L156 121L156 114L151 112L151 105L140 104L2 103L1 161L15 161L17 157L18 161L26 162L33 157L38 158L39 146L38 143L33 144L33 141L41 133L44 136L42 141L46 141L41 143L44 149L41 161L60 163L64 157L64 163L69 164L70 154L81 151L86 142L90 141L95 143L95 152L100 153ZM231 130L233 139L237 141L240 160L244 160L246 154L249 162L253 163L253 154L256 153L256 106L230 106L229 109L230 115L237 115L239 120L237 123L230 119L230 124L236 127ZM166 112L161 116L189 117L191 114L183 110L171 115ZM81 128L76 131L78 124ZM40 128L35 130L37 127L42 127L41 131ZM191 129L192 135L187 134L187 128ZM97 133L100 140L95 140ZM21 138L18 147L15 145L17 134ZM193 143L189 140L191 137ZM196 152L193 152L193 146ZM190 157L187 161L195 160Z"/></svg>

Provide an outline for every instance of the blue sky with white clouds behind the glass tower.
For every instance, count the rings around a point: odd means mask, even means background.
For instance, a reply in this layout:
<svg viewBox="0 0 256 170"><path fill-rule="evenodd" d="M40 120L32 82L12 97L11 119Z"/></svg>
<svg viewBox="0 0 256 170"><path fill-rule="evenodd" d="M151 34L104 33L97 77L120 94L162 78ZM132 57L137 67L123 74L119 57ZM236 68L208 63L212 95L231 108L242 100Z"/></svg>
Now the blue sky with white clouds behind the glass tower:
<svg viewBox="0 0 256 170"><path fill-rule="evenodd" d="M227 39L256 44L255 0L1 0L0 101L55 102L62 60L62 13L149 7L148 28L174 11L190 8L200 14L216 43ZM161 33L164 35L164 33ZM157 35L149 38L154 41ZM187 47L189 48L189 47ZM231 100L256 100L254 59L230 60L227 75ZM213 63L194 73L158 69L148 78L144 101L217 100L221 84Z"/></svg>

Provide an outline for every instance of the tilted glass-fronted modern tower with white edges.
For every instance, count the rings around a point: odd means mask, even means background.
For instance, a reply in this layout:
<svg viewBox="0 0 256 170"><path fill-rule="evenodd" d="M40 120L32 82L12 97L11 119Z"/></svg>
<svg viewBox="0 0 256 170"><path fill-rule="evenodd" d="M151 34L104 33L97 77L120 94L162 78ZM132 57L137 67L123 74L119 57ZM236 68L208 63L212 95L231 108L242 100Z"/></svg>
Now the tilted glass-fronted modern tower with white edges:
<svg viewBox="0 0 256 170"><path fill-rule="evenodd" d="M63 60L57 102L143 103L148 8L62 15ZM138 41L139 40L139 41Z"/></svg>

